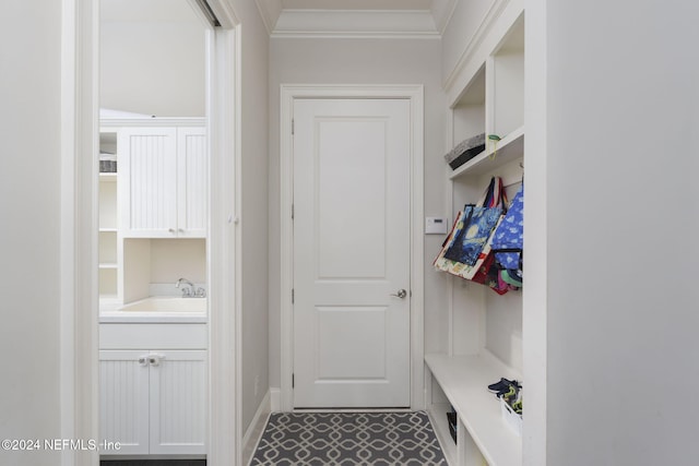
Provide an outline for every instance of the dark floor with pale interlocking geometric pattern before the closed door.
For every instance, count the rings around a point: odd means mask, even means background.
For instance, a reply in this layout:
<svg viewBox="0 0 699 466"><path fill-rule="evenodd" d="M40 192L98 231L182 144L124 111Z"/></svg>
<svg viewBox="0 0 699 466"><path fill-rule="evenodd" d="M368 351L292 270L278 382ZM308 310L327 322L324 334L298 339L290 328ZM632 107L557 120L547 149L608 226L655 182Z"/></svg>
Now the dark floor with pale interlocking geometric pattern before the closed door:
<svg viewBox="0 0 699 466"><path fill-rule="evenodd" d="M273 413L254 466L446 466L424 411Z"/></svg>

